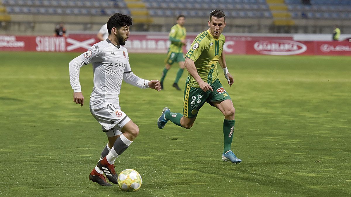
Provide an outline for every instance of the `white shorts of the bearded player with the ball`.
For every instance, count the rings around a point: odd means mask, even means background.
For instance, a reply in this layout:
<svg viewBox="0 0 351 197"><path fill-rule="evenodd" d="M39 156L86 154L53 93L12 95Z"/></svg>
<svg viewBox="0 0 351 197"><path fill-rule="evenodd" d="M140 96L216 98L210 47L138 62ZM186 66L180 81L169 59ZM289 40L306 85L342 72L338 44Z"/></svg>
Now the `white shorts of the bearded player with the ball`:
<svg viewBox="0 0 351 197"><path fill-rule="evenodd" d="M102 131L107 137L121 135L121 129L131 119L119 108L118 104L104 102L99 106L94 106L94 108L90 106L90 113L101 124Z"/></svg>

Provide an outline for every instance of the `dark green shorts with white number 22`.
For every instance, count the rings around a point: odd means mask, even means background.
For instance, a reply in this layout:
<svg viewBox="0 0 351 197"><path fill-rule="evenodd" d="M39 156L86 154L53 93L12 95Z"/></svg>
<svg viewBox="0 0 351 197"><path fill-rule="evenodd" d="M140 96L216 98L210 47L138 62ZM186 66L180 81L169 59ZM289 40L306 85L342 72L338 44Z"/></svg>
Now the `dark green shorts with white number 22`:
<svg viewBox="0 0 351 197"><path fill-rule="evenodd" d="M197 116L205 102L213 106L212 102L231 100L231 97L218 79L212 83L211 87L213 91L204 92L201 88L191 87L187 82L185 83L183 107L183 115L185 117L193 118Z"/></svg>

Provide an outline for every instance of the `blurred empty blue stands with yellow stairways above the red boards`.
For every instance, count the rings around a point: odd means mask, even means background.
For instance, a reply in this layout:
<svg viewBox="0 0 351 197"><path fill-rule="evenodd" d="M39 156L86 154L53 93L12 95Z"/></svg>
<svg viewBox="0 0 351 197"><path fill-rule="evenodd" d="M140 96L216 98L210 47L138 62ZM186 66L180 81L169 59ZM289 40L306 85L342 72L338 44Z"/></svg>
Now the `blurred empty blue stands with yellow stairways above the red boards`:
<svg viewBox="0 0 351 197"><path fill-rule="evenodd" d="M351 33L350 0L2 0L0 33L51 35L59 22L97 31L116 12L132 16L133 31L167 32L183 14L187 31L201 32L213 9L225 12L225 32L329 34L338 25Z"/></svg>

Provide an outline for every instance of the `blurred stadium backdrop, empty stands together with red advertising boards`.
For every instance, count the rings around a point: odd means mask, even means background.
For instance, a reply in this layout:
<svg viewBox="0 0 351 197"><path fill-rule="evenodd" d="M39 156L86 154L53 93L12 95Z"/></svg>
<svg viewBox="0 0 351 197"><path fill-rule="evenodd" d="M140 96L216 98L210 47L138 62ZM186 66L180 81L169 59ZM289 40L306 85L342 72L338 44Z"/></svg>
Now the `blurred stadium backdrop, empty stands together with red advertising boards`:
<svg viewBox="0 0 351 197"><path fill-rule="evenodd" d="M228 54L351 53L350 0L0 0L0 51L84 52L99 41L96 34L108 17L120 12L133 18L129 52L166 53L177 15L186 16L190 44L208 28L213 9L227 16ZM59 23L67 38L53 37ZM336 26L343 44L329 42Z"/></svg>

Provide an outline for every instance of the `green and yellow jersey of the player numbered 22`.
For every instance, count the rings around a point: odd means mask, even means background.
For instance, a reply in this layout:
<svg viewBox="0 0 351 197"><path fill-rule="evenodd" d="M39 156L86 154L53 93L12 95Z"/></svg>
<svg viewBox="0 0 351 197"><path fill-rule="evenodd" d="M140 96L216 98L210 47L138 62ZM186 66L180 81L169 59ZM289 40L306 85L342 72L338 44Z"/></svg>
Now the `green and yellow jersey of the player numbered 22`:
<svg viewBox="0 0 351 197"><path fill-rule="evenodd" d="M187 58L195 62L201 79L210 85L218 79L217 63L222 54L224 42L224 35L221 34L219 39L214 39L210 30L206 30L197 35L186 54ZM187 82L191 87L199 87L199 83L190 74Z"/></svg>

